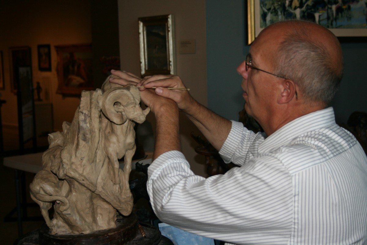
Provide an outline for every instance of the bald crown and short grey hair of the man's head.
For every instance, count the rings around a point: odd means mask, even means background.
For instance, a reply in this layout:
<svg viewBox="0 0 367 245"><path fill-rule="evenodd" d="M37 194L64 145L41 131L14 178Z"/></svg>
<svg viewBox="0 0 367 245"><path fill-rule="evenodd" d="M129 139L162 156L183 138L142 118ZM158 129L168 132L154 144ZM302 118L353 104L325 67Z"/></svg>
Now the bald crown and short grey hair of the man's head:
<svg viewBox="0 0 367 245"><path fill-rule="evenodd" d="M340 43L330 30L306 21L281 21L259 35L276 36L275 73L293 80L306 101L328 104L343 74Z"/></svg>

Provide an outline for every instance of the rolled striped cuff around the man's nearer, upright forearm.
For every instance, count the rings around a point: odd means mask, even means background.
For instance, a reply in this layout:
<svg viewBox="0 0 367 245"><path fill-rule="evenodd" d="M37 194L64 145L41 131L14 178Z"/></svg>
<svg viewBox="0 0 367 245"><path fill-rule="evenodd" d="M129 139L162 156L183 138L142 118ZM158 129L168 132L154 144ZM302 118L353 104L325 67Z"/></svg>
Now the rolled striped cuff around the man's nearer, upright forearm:
<svg viewBox="0 0 367 245"><path fill-rule="evenodd" d="M174 162L185 163L190 167L188 161L186 160L185 156L182 154L181 151L167 151L158 156L152 162L152 164L150 164L150 166L148 167L148 179L150 178L155 179L158 176L161 169Z"/></svg>

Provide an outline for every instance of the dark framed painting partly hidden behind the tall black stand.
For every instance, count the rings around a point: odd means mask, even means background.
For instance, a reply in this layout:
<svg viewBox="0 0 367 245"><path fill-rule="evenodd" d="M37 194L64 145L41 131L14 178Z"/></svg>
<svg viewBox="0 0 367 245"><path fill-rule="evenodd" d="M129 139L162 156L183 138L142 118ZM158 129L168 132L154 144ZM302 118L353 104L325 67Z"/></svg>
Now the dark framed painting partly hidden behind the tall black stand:
<svg viewBox="0 0 367 245"><path fill-rule="evenodd" d="M32 67L30 47L10 47L10 87L12 93L17 93L19 82L19 67Z"/></svg>

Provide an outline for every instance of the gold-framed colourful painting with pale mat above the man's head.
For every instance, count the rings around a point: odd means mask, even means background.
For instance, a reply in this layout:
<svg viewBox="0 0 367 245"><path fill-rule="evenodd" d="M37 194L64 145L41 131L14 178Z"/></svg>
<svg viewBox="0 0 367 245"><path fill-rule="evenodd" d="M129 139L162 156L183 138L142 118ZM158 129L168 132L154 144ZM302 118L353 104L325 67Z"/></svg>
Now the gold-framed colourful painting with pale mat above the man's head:
<svg viewBox="0 0 367 245"><path fill-rule="evenodd" d="M337 37L367 36L367 3L360 0L248 0L247 44L266 26L285 19L304 19Z"/></svg>

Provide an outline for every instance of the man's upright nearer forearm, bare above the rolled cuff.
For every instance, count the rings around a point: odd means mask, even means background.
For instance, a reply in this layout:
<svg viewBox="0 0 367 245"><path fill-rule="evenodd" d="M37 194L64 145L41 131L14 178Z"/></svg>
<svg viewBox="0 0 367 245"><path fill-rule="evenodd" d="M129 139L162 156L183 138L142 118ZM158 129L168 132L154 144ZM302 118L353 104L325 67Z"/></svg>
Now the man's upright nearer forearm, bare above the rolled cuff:
<svg viewBox="0 0 367 245"><path fill-rule="evenodd" d="M153 160L168 151L181 151L179 141L178 108L164 109L156 116L156 140Z"/></svg>

